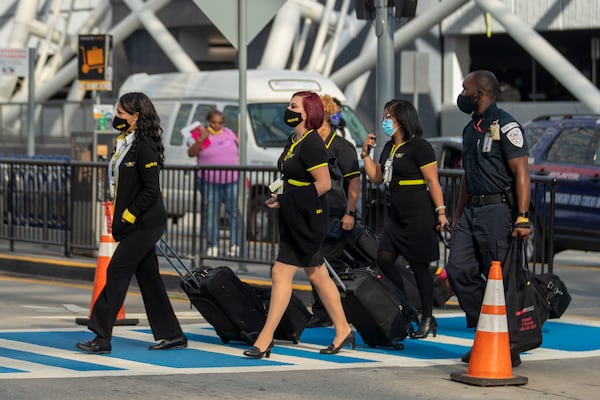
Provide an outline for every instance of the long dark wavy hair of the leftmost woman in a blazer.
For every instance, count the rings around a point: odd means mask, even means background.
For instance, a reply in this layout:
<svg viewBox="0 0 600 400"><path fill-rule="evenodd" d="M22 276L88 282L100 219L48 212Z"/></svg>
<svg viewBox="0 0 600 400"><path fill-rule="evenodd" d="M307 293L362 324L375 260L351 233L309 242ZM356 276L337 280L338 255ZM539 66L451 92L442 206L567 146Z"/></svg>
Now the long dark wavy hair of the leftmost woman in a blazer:
<svg viewBox="0 0 600 400"><path fill-rule="evenodd" d="M130 151L135 151L135 147L140 140L152 141L158 151L160 166L164 166L165 147L162 144L163 129L160 126L160 117L152 101L144 93L130 92L121 96L119 104L129 114L138 113L135 141Z"/></svg>

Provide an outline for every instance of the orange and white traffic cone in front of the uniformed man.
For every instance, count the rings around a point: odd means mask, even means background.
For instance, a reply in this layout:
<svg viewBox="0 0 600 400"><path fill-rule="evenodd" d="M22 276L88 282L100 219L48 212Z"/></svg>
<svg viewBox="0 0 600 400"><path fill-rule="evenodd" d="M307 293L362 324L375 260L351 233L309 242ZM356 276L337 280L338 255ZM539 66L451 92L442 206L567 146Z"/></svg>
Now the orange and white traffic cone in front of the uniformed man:
<svg viewBox="0 0 600 400"><path fill-rule="evenodd" d="M500 261L492 261L467 373L452 373L450 379L477 386L527 384L526 377L512 374Z"/></svg>

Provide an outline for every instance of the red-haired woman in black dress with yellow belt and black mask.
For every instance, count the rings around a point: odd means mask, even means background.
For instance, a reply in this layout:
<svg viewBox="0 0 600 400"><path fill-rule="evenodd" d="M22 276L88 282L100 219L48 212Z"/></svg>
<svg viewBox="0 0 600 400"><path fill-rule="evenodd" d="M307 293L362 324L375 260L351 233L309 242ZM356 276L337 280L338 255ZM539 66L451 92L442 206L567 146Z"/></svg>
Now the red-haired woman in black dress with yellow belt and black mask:
<svg viewBox="0 0 600 400"><path fill-rule="evenodd" d="M313 92L295 93L285 110L284 121L294 133L278 161L283 193L273 194L267 201L268 207L279 209L279 251L271 271L273 288L267 321L254 346L244 351L250 358L271 355L275 329L290 302L298 268L304 268L335 327L333 342L320 353L336 354L347 344L355 347L354 332L321 254L321 242L329 228L324 194L331 187L329 157L317 132L323 117L323 103Z"/></svg>

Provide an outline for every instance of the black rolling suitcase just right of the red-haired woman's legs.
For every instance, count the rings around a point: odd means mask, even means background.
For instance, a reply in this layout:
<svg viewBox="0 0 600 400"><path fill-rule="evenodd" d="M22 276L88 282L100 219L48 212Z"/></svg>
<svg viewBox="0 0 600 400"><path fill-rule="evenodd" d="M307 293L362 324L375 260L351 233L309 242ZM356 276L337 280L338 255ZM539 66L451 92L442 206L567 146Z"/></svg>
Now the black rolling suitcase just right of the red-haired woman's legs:
<svg viewBox="0 0 600 400"><path fill-rule="evenodd" d="M342 288L342 306L370 347L402 350L402 341L414 334L416 311L402 293L385 277L370 268L352 269L338 276L326 262L334 280Z"/></svg>

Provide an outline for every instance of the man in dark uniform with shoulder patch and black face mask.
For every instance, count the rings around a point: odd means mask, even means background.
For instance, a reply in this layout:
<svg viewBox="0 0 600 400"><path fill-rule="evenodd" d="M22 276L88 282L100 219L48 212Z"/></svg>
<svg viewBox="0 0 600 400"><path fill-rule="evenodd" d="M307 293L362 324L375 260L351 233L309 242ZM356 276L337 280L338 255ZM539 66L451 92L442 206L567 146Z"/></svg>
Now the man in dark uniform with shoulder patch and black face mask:
<svg viewBox="0 0 600 400"><path fill-rule="evenodd" d="M493 73L474 71L457 99L472 120L463 130L465 173L446 270L470 328L477 327L492 261L504 260L513 237L531 234L529 151L521 125L497 107L498 92ZM521 364L518 353L511 358ZM462 357L469 359L470 352Z"/></svg>

